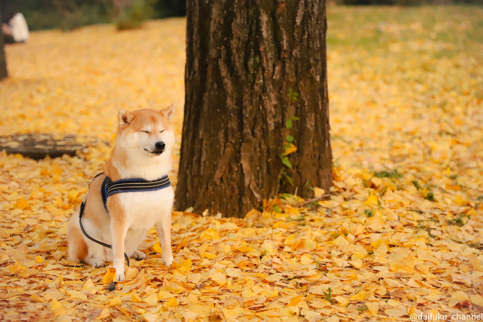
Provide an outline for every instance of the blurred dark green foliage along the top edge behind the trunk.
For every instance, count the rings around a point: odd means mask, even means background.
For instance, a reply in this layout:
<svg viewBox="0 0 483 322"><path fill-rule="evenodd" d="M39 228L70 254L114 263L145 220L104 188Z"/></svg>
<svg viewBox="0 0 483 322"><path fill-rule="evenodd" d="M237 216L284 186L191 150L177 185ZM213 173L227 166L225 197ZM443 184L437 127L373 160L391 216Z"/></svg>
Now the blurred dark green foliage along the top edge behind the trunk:
<svg viewBox="0 0 483 322"><path fill-rule="evenodd" d="M25 15L30 30L114 22L118 29L139 28L146 19L186 14L186 0L3 0ZM476 4L483 0L327 0L341 5Z"/></svg>

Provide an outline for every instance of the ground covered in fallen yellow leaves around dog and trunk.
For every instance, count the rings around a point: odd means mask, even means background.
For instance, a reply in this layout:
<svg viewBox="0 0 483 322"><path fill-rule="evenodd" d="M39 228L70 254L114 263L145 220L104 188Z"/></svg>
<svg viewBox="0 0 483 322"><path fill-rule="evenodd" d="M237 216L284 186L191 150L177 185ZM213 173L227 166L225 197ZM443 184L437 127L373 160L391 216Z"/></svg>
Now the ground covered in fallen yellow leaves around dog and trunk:
<svg viewBox="0 0 483 322"><path fill-rule="evenodd" d="M286 195L244 219L176 212L177 264L162 265L153 229L116 294L107 268L66 259L67 220L108 157L119 109L183 106L185 20L34 32L8 46L0 135L101 143L38 162L0 154L0 320L136 319L127 304L149 322L481 312L483 10L327 16L331 195L303 207Z"/></svg>

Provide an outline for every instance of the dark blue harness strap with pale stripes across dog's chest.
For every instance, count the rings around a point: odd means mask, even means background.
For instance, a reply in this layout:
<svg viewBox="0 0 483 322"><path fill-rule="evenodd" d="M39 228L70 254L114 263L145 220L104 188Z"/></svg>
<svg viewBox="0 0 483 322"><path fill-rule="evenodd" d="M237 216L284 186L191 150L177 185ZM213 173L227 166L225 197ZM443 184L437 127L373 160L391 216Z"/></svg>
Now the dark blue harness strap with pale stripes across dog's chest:
<svg viewBox="0 0 483 322"><path fill-rule="evenodd" d="M100 186L100 195L102 196L102 203L104 204L104 209L107 210L107 197L114 194L119 194L121 192L141 192L141 191L155 191L160 190L171 185L170 178L168 176L163 176L154 181L146 181L144 179L121 179L117 181L112 181L111 178L107 177L102 182Z"/></svg>

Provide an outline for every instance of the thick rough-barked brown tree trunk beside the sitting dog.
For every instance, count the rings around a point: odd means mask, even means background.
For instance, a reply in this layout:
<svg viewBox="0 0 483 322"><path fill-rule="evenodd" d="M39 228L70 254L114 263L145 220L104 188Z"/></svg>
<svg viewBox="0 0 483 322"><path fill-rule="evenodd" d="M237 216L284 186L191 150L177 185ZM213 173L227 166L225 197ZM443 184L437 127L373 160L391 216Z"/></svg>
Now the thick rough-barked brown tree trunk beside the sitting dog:
<svg viewBox="0 0 483 322"><path fill-rule="evenodd" d="M186 14L176 208L241 217L277 192L327 190L325 0L192 0ZM293 169L279 156L287 135Z"/></svg>

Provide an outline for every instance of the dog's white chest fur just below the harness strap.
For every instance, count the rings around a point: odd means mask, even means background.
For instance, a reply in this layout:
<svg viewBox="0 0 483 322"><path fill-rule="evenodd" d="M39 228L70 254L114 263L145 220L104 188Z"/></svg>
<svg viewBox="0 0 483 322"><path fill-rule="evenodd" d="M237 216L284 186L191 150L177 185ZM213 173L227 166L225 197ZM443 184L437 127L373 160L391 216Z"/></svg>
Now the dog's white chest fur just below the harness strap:
<svg viewBox="0 0 483 322"><path fill-rule="evenodd" d="M172 187L156 191L126 192L119 194L126 211L129 229L150 229L163 216L170 214L174 192Z"/></svg>

